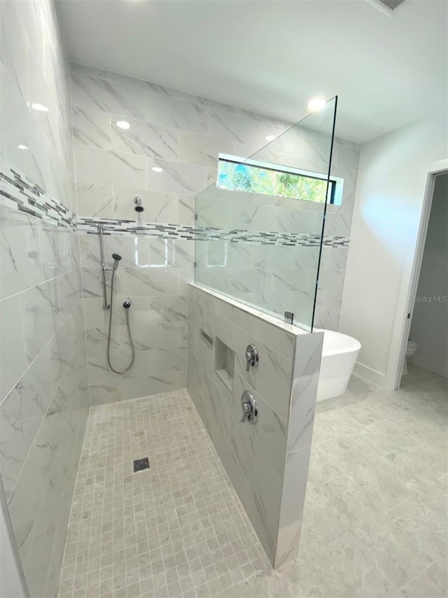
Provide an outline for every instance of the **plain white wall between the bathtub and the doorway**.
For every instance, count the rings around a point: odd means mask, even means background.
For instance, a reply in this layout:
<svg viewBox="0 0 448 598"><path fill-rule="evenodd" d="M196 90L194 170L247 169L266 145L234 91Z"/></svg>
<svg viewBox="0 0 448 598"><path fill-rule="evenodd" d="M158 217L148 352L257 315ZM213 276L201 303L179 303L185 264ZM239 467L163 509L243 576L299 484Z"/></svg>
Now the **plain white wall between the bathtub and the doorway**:
<svg viewBox="0 0 448 598"><path fill-rule="evenodd" d="M362 344L356 369L393 388L419 231L419 170L448 156L443 116L361 147L339 331Z"/></svg>

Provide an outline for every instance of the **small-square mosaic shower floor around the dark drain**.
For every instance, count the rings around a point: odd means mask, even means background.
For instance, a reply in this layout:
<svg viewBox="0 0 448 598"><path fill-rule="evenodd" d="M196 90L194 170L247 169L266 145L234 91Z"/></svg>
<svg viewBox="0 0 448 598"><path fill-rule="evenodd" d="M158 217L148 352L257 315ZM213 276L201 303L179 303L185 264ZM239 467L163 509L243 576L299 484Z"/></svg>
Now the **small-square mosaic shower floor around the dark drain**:
<svg viewBox="0 0 448 598"><path fill-rule="evenodd" d="M186 390L92 408L61 597L209 596L268 568Z"/></svg>

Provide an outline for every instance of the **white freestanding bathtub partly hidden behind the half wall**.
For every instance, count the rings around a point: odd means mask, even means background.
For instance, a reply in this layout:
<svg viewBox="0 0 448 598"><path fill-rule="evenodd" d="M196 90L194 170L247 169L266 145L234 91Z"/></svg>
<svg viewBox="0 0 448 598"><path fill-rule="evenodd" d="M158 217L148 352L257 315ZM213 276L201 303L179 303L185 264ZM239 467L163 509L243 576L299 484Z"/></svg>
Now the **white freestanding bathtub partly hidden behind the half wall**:
<svg viewBox="0 0 448 598"><path fill-rule="evenodd" d="M317 400L324 401L345 393L361 344L356 339L352 339L341 332L320 328L314 330L315 332L323 332L322 362Z"/></svg>

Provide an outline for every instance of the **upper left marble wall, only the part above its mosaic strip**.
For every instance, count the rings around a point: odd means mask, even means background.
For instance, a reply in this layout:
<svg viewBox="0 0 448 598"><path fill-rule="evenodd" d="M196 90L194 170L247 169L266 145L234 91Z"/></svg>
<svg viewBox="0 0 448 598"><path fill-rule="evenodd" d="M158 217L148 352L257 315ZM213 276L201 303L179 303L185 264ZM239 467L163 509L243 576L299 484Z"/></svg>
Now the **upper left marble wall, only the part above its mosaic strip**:
<svg viewBox="0 0 448 598"><path fill-rule="evenodd" d="M55 5L2 1L0 55L0 156L75 212L69 62Z"/></svg>

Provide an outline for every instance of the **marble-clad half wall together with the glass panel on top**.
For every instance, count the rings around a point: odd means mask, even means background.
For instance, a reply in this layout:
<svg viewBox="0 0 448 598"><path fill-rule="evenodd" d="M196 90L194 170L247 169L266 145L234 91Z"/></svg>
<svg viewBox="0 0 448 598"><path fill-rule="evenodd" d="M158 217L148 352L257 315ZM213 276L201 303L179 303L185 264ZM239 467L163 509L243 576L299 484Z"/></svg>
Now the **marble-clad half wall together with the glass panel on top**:
<svg viewBox="0 0 448 598"><path fill-rule="evenodd" d="M304 331L315 326L323 249L344 243L324 234L342 196L330 172L336 104L249 157L220 154L216 182L195 201L187 388L274 566L295 558L300 538L323 344ZM247 369L251 345L260 356ZM235 409L248 393L253 426Z"/></svg>

